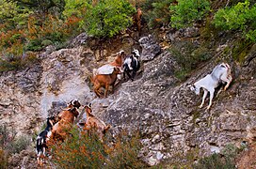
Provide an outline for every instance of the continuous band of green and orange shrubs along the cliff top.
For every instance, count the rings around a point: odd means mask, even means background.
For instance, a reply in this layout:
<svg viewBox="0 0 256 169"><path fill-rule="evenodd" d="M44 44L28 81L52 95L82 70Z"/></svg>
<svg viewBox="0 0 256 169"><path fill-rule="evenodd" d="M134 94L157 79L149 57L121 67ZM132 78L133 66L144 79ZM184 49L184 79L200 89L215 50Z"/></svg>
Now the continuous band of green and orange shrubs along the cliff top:
<svg viewBox="0 0 256 169"><path fill-rule="evenodd" d="M1 0L0 71L22 69L27 62L36 60L33 53L48 45L61 48L65 41L83 31L99 39L114 37L133 24L136 7L142 8L143 17L151 28L179 29L194 23L203 25L210 19L210 24L216 28L242 31L242 38L255 42L256 6L253 1L237 0L217 9L211 8L211 4L216 1ZM33 53L28 56L28 51Z"/></svg>

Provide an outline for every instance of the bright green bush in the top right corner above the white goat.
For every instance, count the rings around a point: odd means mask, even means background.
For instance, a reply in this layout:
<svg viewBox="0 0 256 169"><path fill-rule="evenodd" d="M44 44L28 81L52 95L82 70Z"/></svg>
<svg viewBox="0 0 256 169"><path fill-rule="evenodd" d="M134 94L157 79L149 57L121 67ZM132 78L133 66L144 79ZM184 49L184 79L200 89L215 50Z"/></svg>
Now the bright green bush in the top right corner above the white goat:
<svg viewBox="0 0 256 169"><path fill-rule="evenodd" d="M213 23L224 30L241 30L246 38L256 42L256 5L250 6L248 0L231 8L220 8Z"/></svg>

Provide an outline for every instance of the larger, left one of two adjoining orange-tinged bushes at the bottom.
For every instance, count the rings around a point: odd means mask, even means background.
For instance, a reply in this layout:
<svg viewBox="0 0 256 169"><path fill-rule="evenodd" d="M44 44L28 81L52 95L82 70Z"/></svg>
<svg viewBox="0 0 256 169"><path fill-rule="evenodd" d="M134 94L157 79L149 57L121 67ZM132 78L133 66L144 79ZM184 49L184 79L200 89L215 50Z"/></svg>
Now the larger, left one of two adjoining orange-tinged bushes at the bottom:
<svg viewBox="0 0 256 169"><path fill-rule="evenodd" d="M54 145L53 161L59 168L102 168L104 145L94 133L82 133L72 129L69 137L61 145Z"/></svg>

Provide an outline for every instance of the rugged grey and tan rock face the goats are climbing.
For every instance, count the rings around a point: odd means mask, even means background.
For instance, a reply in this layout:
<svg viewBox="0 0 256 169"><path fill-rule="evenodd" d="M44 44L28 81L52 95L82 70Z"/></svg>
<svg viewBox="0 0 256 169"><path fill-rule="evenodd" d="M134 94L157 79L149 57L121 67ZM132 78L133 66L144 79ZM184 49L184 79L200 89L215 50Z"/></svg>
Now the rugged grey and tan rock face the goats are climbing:
<svg viewBox="0 0 256 169"><path fill-rule="evenodd" d="M198 108L201 96L190 91L188 84L205 76L216 66L216 60L209 61L181 83L174 76L179 65L173 55L162 51L150 36L141 38L139 43L145 62L136 80L115 86L114 93L106 99L96 98L88 82L92 69L99 68L105 61L96 62L94 52L87 46L40 54L37 67L3 73L0 122L15 127L20 134L31 134L40 129L47 115L56 114L67 102L74 99L82 104L91 102L93 112L111 124L113 130L141 133L140 156L151 165L177 154L195 151L200 157L228 143L255 139L253 50L245 67L231 63L231 86L214 98L211 110L206 111L209 100L203 108Z"/></svg>

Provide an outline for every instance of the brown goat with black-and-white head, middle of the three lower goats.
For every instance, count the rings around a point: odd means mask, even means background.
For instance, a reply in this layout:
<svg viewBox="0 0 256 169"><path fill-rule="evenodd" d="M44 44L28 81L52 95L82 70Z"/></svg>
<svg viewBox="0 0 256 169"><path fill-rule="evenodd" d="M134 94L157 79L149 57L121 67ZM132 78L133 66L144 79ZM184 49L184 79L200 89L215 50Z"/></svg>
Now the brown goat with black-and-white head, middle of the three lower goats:
<svg viewBox="0 0 256 169"><path fill-rule="evenodd" d="M74 118L79 115L77 109L79 109L80 106L81 104L78 100L72 100L68 107L58 114L59 121L53 127L52 131L52 138L54 140L59 138L60 141L64 141L67 130L72 127Z"/></svg>

